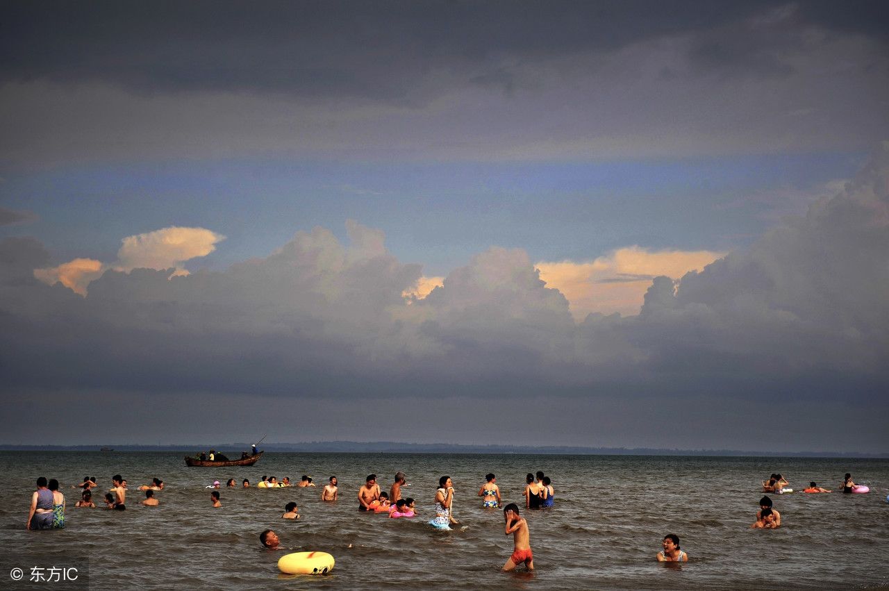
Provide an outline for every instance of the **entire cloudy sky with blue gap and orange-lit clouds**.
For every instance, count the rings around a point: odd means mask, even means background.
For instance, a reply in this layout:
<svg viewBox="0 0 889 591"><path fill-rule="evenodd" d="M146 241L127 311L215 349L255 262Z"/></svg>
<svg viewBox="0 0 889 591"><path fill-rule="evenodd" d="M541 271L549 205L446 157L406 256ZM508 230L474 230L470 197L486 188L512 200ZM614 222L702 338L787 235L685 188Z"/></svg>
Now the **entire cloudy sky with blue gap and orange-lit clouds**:
<svg viewBox="0 0 889 591"><path fill-rule="evenodd" d="M884 2L0 3L0 444L889 452Z"/></svg>

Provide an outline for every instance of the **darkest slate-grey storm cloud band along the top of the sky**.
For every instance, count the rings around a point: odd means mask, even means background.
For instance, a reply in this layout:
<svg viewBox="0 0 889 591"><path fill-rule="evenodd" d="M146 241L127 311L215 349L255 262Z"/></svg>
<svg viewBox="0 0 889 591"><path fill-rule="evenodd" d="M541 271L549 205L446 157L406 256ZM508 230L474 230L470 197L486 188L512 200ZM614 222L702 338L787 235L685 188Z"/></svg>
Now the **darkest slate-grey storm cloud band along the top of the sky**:
<svg viewBox="0 0 889 591"><path fill-rule="evenodd" d="M885 39L885 3L95 2L3 4L0 82L137 92L282 92L427 100L438 84L501 84L521 66L691 36L693 63L763 75L817 26ZM778 22L763 15L785 10ZM881 26L881 23L883 26ZM773 33L778 35L773 35ZM785 35L791 33L791 35ZM426 81L421 83L421 81ZM437 81L437 82L436 82Z"/></svg>

